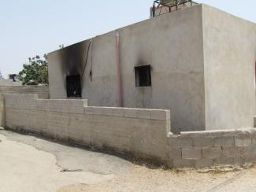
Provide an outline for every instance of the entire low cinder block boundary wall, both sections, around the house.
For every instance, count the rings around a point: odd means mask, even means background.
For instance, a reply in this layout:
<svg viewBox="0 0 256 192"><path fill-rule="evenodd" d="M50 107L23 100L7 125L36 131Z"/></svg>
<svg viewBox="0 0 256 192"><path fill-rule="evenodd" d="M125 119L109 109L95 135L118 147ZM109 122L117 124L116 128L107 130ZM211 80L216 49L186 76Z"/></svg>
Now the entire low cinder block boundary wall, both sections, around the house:
<svg viewBox="0 0 256 192"><path fill-rule="evenodd" d="M132 153L173 168L256 161L255 128L173 135L169 110L89 107L87 100L38 99L36 94L8 94L5 103L11 130Z"/></svg>

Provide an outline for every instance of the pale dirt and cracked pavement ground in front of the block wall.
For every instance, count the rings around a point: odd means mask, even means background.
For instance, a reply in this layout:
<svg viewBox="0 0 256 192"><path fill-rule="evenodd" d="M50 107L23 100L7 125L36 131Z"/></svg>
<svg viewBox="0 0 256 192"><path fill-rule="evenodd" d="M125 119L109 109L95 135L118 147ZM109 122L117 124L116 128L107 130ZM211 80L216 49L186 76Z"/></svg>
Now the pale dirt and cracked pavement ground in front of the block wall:
<svg viewBox="0 0 256 192"><path fill-rule="evenodd" d="M256 191L256 166L165 170L0 131L0 191Z"/></svg>

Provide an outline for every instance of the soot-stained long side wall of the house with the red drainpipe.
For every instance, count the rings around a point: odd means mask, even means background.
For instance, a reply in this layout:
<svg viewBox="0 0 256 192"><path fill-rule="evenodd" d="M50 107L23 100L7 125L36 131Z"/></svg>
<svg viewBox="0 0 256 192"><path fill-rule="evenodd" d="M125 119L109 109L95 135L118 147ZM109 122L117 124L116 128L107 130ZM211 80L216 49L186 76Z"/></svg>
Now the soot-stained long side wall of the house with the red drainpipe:
<svg viewBox="0 0 256 192"><path fill-rule="evenodd" d="M124 107L175 109L174 132L203 130L202 7L166 13L117 31ZM82 96L90 105L117 106L115 35L111 31L93 39L82 82ZM87 40L48 54L50 98L66 97L63 65L83 66L88 44ZM135 87L136 65L152 66L152 87Z"/></svg>

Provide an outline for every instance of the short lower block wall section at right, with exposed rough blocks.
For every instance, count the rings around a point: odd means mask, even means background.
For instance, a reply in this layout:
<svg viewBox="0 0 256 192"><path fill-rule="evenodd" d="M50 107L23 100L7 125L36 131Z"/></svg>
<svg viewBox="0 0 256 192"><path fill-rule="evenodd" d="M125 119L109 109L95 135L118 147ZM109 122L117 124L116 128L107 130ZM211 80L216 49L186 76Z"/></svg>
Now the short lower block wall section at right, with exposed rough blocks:
<svg viewBox="0 0 256 192"><path fill-rule="evenodd" d="M244 164L256 160L256 129L169 134L168 150L176 168Z"/></svg>

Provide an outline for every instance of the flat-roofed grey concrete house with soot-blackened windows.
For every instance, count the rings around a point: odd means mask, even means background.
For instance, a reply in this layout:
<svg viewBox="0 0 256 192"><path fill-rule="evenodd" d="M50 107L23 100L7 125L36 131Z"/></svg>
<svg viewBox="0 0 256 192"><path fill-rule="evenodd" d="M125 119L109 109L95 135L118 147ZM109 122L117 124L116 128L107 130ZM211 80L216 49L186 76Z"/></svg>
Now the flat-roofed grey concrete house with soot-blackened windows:
<svg viewBox="0 0 256 192"><path fill-rule="evenodd" d="M169 109L172 131L253 127L256 24L206 5L48 54L50 98Z"/></svg>

